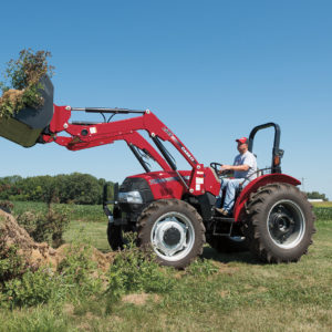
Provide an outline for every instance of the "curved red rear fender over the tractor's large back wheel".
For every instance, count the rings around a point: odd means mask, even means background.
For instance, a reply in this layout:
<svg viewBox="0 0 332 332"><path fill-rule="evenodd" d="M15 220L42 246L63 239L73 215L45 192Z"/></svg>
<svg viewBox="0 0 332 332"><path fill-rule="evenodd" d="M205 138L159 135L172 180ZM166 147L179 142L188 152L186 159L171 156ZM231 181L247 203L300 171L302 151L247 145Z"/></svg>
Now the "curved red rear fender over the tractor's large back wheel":
<svg viewBox="0 0 332 332"><path fill-rule="evenodd" d="M301 185L301 181L298 179L286 175L286 174L267 174L262 175L255 180L252 180L250 184L248 184L245 189L241 191L240 196L238 197L235 208L234 208L234 218L235 221L241 221L241 216L245 212L245 207L246 203L249 199L249 196L251 193L256 193L259 187L263 187L268 184L274 184L274 183L284 183L284 184L290 184L293 186L299 186Z"/></svg>

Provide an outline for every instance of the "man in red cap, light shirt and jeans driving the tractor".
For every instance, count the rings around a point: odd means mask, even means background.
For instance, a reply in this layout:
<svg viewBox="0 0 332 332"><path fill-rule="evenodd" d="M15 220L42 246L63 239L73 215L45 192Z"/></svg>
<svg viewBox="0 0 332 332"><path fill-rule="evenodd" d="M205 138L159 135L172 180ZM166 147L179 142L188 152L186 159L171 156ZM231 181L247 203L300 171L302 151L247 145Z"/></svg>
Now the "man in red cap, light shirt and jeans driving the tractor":
<svg viewBox="0 0 332 332"><path fill-rule="evenodd" d="M242 137L236 139L238 143L239 155L236 156L234 165L222 165L219 174L225 170L234 172L235 178L224 178L221 180L221 187L219 196L217 197L216 210L222 216L229 216L235 203L235 196L237 189L248 185L257 177L257 162L255 155L248 151L248 138ZM224 206L220 208L222 191L226 189Z"/></svg>

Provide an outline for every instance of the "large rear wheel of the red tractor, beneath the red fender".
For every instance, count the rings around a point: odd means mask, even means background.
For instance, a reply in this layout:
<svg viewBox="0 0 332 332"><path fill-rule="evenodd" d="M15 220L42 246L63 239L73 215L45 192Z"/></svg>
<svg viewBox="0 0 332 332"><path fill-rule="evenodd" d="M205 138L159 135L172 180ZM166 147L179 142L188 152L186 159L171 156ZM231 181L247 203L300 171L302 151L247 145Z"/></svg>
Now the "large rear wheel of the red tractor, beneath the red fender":
<svg viewBox="0 0 332 332"><path fill-rule="evenodd" d="M247 204L245 235L250 251L264 262L293 262L307 253L314 216L307 197L289 184L261 187Z"/></svg>

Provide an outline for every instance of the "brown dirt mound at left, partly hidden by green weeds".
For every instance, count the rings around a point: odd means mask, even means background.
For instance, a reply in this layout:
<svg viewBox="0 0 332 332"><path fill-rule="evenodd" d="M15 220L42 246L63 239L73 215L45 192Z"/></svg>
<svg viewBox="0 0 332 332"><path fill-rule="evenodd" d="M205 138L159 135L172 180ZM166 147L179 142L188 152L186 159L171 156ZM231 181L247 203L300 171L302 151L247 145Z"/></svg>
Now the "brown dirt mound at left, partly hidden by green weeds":
<svg viewBox="0 0 332 332"><path fill-rule="evenodd" d="M20 227L12 215L0 209L0 236L4 240L7 247L15 246L18 252L27 261L29 266L40 267L49 266L56 270L59 263L65 258L66 248L70 245L63 245L58 249L53 249L46 242L38 243L29 236L25 229ZM114 252L103 253L93 248L91 260L97 262L97 267L104 271L110 268L113 262Z"/></svg>

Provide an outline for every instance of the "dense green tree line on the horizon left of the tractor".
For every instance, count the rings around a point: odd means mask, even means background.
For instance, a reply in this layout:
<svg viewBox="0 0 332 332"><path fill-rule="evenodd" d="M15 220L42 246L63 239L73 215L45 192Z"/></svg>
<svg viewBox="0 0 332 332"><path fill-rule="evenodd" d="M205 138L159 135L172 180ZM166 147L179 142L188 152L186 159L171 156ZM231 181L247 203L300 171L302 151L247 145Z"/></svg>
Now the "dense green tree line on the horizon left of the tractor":
<svg viewBox="0 0 332 332"><path fill-rule="evenodd" d="M90 174L72 173L27 178L19 175L6 176L0 178L0 200L95 205L102 204L105 184L110 185L110 193L113 193L113 183ZM112 194L108 199L112 199Z"/></svg>

